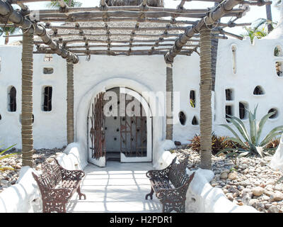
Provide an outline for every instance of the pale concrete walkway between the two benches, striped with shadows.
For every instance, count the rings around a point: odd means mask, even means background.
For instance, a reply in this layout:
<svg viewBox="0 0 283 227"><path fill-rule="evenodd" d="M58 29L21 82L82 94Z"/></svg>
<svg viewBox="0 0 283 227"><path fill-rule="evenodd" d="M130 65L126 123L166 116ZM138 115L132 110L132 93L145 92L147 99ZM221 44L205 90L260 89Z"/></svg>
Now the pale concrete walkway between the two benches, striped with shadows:
<svg viewBox="0 0 283 227"><path fill-rule="evenodd" d="M106 167L88 165L81 192L86 200L79 200L77 193L71 198L67 212L161 212L161 204L144 199L150 192L145 173L152 170L152 163L120 163L108 161Z"/></svg>

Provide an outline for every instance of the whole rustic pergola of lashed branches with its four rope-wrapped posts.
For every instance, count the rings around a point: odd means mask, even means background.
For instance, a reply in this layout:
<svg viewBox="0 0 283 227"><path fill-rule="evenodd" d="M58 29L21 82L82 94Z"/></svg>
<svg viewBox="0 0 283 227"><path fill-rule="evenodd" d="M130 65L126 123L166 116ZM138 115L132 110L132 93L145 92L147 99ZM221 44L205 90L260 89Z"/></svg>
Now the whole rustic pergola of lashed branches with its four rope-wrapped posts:
<svg viewBox="0 0 283 227"><path fill-rule="evenodd" d="M248 26L236 23L247 6L271 4L265 0L200 0L214 2L207 9L185 9L180 0L176 9L152 7L142 0L139 6L100 6L71 8L57 0L59 9L30 11L25 3L41 0L0 0L0 26L16 26L23 31L22 142L23 165L32 166L33 153L33 53L52 53L67 59L68 143L74 141L74 72L79 56L163 55L166 62L166 92L173 92L173 61L176 55L200 55L200 134L201 167L211 167L212 133L212 39L241 36L225 28ZM53 0L56 1L56 0ZM13 9L18 4L21 11ZM223 17L231 17L221 23ZM10 35L14 36L14 35ZM34 38L35 36L35 38ZM33 44L37 50L33 52ZM166 111L173 109L172 94L166 96ZM166 116L166 139L173 139L173 125Z"/></svg>

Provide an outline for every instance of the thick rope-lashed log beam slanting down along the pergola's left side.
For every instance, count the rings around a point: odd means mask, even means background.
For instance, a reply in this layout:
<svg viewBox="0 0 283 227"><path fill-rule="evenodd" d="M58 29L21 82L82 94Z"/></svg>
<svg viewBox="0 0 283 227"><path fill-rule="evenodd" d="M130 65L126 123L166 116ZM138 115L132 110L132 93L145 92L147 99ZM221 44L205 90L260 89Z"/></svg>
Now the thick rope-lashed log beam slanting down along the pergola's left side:
<svg viewBox="0 0 283 227"><path fill-rule="evenodd" d="M43 43L49 45L51 50L53 50L54 53L57 53L57 55L61 55L63 58L67 59L67 61L73 62L74 64L79 62L78 56L68 50L64 50L62 47L59 47L59 43L52 40L50 35L47 34L44 26L30 21L30 19L23 16L21 12L15 11L13 7L11 7L11 4L8 4L7 1L0 0L0 16L7 15L10 15L9 21L13 22L14 25L21 27L25 31L33 27L33 32L40 36Z"/></svg>

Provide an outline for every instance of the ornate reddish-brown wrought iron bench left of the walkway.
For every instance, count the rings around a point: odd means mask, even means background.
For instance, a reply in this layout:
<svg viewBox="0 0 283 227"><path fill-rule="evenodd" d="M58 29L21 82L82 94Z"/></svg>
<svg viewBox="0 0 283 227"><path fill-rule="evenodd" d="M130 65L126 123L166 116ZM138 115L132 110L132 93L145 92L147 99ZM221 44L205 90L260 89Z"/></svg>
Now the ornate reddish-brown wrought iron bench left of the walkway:
<svg viewBox="0 0 283 227"><path fill-rule="evenodd" d="M43 213L66 213L66 204L74 192L78 192L79 199L81 196L86 199L80 189L85 173L81 170L66 170L56 159L54 161L53 165L45 162L42 165L42 175L33 173L33 178L40 188Z"/></svg>

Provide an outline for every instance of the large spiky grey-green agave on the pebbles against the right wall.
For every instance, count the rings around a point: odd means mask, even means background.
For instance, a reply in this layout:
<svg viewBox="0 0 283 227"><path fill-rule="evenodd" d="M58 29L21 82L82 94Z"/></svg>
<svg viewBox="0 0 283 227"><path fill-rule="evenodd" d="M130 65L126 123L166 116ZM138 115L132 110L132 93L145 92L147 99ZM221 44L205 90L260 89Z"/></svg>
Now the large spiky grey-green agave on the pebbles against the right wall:
<svg viewBox="0 0 283 227"><path fill-rule="evenodd" d="M235 138L227 137L226 140L232 140L234 143L236 143L236 148L226 148L224 150L219 151L219 153L217 153L216 155L219 155L220 153L224 152L229 152L226 157L233 157L234 155L236 155L237 157L243 157L258 154L263 157L265 155L268 155L268 152L270 150L274 150L272 148L267 147L267 145L270 143L270 140L272 140L272 138L275 138L283 133L283 126L277 126L273 128L272 131L270 131L270 133L268 133L265 138L263 138L263 140L260 140L263 126L265 126L267 119L270 118L270 116L272 116L273 114L275 114L276 111L266 114L260 119L258 123L256 121L257 109L258 106L255 107L253 113L251 111L246 110L248 111L248 120L250 124L249 133L240 118L237 118L236 116L227 115L227 120L229 120L233 124L233 126L235 126L235 128L239 132L239 135L230 126L226 124L221 124L220 126L227 128L229 131L231 131L231 133L233 133L233 135L235 135Z"/></svg>

